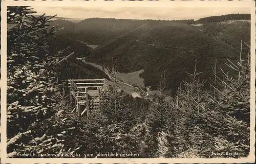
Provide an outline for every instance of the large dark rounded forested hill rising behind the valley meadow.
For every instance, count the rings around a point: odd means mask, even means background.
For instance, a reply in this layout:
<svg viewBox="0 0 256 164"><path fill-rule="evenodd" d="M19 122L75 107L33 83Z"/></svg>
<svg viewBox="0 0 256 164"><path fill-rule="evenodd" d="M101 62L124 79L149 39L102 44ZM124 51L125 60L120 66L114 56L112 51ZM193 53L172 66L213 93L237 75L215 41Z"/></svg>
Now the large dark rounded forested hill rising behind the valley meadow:
<svg viewBox="0 0 256 164"><path fill-rule="evenodd" d="M88 60L111 67L112 57L117 60L120 72L144 69L144 84L152 85L153 89L160 83L160 73L165 72L169 88L175 90L179 82L187 79L186 71L193 70L195 59L198 70L208 78L215 59L220 66L226 58L237 59L239 51L198 33L194 27L171 23L147 25L121 36L96 49Z"/></svg>

